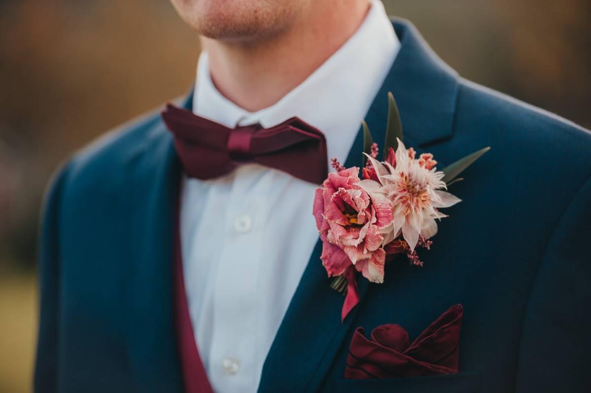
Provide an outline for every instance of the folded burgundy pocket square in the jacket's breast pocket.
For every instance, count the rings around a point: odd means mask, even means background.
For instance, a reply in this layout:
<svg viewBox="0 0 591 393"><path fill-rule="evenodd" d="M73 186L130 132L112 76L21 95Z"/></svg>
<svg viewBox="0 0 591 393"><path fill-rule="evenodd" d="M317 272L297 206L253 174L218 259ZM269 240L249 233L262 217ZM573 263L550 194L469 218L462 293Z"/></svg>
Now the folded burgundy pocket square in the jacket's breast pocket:
<svg viewBox="0 0 591 393"><path fill-rule="evenodd" d="M371 337L358 327L353 334L345 378L404 378L458 372L462 305L443 313L410 343L398 324L376 327Z"/></svg>

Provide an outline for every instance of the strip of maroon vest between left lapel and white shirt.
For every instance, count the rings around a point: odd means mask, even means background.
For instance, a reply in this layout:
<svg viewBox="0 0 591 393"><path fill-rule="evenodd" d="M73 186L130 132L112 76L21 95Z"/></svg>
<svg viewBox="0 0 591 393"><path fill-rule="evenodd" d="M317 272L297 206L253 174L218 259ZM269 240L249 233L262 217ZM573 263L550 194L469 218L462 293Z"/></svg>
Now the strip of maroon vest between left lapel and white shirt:
<svg viewBox="0 0 591 393"><path fill-rule="evenodd" d="M177 331L178 355L183 373L185 393L213 393L207 373L201 362L193 324L189 315L187 293L183 277L183 253L181 252L180 209L176 209L174 239L174 320Z"/></svg>

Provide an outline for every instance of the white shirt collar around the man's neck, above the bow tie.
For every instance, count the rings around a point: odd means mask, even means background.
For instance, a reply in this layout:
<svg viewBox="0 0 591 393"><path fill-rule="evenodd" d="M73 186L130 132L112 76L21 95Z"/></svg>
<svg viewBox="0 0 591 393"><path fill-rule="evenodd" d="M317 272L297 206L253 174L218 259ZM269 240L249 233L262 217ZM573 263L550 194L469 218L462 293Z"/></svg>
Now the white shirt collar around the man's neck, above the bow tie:
<svg viewBox="0 0 591 393"><path fill-rule="evenodd" d="M304 82L261 111L248 112L216 89L203 52L197 66L193 112L228 127L254 123L270 127L297 116L320 129L326 135L329 158L343 162L398 50L400 41L384 6L372 0L352 37Z"/></svg>

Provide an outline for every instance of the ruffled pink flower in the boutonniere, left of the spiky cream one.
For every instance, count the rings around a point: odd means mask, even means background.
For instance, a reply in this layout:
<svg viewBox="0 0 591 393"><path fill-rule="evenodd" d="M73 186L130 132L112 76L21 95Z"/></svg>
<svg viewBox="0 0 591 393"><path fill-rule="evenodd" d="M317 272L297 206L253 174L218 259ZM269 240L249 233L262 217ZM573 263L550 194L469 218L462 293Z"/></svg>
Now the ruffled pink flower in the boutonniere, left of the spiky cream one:
<svg viewBox="0 0 591 393"><path fill-rule="evenodd" d="M359 187L358 173L356 167L330 173L323 188L316 190L314 217L323 242L320 259L329 277L343 274L353 264L368 280L383 282L382 232L394 219L392 203Z"/></svg>

